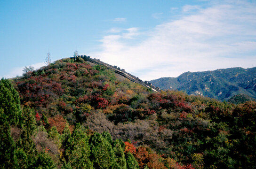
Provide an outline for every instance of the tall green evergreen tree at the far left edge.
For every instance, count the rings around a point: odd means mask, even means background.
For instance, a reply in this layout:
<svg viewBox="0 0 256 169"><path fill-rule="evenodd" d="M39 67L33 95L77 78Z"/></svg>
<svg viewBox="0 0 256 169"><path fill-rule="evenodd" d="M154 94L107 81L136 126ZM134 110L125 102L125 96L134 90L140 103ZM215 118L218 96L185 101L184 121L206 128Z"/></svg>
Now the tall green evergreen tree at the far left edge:
<svg viewBox="0 0 256 169"><path fill-rule="evenodd" d="M10 125L20 124L21 108L19 95L7 79L0 80L0 168L15 168L15 142Z"/></svg>

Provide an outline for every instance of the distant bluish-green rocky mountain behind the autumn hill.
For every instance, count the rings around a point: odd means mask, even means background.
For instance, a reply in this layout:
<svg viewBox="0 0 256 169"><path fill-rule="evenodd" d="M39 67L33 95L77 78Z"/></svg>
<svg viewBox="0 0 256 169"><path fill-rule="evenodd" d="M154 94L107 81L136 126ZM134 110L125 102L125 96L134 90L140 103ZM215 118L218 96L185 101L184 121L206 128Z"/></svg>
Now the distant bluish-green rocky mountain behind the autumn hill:
<svg viewBox="0 0 256 169"><path fill-rule="evenodd" d="M256 67L185 72L179 77L162 77L150 83L163 90L185 91L218 100L229 100L237 94L256 98Z"/></svg>

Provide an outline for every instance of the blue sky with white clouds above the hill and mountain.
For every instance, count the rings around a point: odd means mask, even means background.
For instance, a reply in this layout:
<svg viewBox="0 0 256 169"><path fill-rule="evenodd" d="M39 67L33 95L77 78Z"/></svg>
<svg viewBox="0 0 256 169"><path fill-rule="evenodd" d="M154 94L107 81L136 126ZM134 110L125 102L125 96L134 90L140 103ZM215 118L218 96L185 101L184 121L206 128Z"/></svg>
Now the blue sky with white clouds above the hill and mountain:
<svg viewBox="0 0 256 169"><path fill-rule="evenodd" d="M75 50L142 80L256 67L256 0L0 0L0 78Z"/></svg>

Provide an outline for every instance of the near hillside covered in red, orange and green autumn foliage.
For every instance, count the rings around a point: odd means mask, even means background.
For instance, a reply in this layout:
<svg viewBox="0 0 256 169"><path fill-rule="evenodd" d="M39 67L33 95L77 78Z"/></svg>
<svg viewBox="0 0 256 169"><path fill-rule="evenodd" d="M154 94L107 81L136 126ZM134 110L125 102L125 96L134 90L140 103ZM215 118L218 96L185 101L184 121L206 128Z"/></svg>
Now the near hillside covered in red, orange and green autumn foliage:
<svg viewBox="0 0 256 169"><path fill-rule="evenodd" d="M0 80L0 168L255 168L255 117L255 101L156 93L63 59Z"/></svg>

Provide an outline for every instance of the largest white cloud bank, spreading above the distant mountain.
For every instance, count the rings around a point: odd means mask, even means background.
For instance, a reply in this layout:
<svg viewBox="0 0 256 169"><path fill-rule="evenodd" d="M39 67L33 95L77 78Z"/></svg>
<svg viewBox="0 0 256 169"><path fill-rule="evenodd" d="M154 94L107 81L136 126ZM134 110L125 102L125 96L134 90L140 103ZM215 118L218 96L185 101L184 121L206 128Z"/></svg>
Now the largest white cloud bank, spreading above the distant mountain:
<svg viewBox="0 0 256 169"><path fill-rule="evenodd" d="M185 6L179 19L152 30L128 28L104 36L102 50L94 55L144 80L177 77L185 71L254 67L255 8L247 1Z"/></svg>

